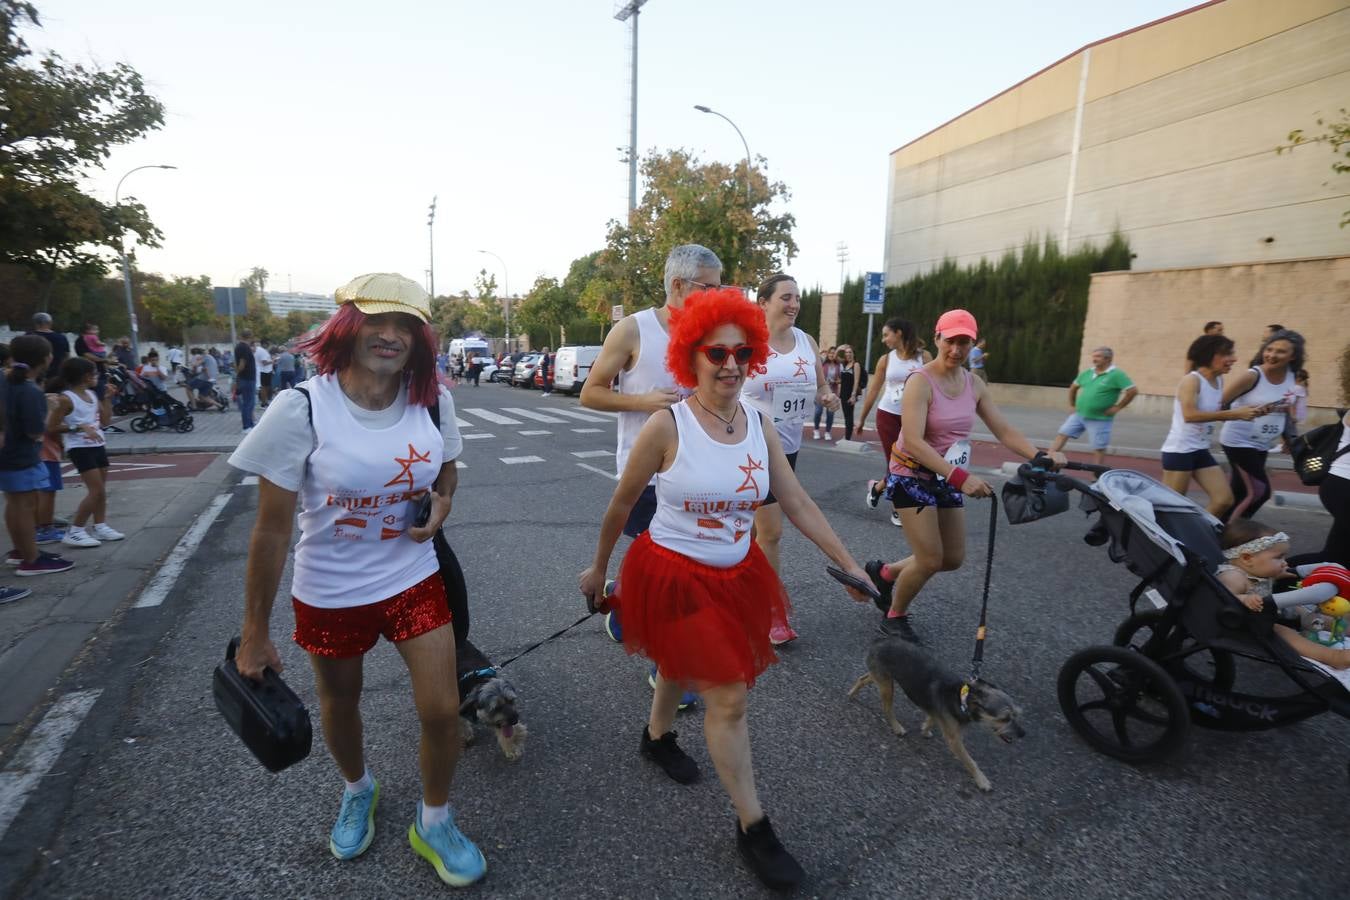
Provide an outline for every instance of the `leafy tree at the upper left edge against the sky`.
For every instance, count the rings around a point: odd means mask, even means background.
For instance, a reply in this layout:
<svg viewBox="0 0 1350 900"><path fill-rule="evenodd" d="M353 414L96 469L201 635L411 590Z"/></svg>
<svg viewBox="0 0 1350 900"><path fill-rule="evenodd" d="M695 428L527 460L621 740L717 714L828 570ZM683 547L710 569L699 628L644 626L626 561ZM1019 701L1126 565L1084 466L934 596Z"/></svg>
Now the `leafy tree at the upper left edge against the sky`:
<svg viewBox="0 0 1350 900"><path fill-rule="evenodd" d="M103 275L128 232L157 247L143 205L96 200L81 181L113 147L163 125L163 105L126 63L99 69L49 53L34 62L19 35L40 27L31 3L0 0L0 263L49 285L61 266Z"/></svg>

